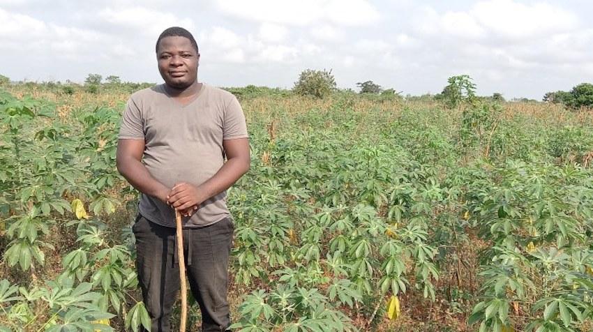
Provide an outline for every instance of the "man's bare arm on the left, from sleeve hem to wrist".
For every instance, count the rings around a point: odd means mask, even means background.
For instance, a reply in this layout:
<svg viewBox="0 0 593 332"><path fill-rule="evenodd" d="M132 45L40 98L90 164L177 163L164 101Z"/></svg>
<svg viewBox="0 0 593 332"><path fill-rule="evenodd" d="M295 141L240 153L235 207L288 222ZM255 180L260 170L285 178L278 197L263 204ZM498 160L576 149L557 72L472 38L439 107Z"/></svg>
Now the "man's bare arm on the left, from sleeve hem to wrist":
<svg viewBox="0 0 593 332"><path fill-rule="evenodd" d="M142 164L144 139L119 139L117 141L117 170L140 193L167 201L170 188L152 177Z"/></svg>

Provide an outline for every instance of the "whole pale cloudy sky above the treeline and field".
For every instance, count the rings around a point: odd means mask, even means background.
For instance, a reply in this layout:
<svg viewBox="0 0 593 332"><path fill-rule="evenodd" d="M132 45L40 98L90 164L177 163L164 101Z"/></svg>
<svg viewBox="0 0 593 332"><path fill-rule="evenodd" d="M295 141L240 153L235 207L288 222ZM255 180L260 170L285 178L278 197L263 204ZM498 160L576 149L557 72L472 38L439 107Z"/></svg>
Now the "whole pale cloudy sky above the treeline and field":
<svg viewBox="0 0 593 332"><path fill-rule="evenodd" d="M437 93L468 74L480 94L541 99L593 82L592 15L590 0L0 0L0 74L161 82L154 43L176 25L217 86L291 88L326 68L342 88Z"/></svg>

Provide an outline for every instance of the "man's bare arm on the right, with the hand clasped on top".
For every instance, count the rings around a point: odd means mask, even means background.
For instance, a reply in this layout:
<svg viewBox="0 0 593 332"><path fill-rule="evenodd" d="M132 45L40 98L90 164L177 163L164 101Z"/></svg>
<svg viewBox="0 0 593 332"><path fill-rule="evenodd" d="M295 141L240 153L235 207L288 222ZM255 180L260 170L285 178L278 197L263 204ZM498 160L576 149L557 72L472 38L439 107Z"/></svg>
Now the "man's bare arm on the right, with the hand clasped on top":
<svg viewBox="0 0 593 332"><path fill-rule="evenodd" d="M210 197L222 193L237 182L250 167L249 139L225 139L223 141L227 162L206 182L194 187L189 183L178 183L167 198L177 209L188 209L199 205Z"/></svg>

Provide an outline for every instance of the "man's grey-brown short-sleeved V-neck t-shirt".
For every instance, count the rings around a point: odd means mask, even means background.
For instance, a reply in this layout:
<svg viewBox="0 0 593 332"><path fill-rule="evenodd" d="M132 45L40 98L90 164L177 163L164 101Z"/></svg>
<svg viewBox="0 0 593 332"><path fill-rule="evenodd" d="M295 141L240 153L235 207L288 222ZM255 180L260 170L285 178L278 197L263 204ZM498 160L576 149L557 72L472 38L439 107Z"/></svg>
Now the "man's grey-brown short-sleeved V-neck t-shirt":
<svg viewBox="0 0 593 332"><path fill-rule="evenodd" d="M225 163L224 139L248 137L245 116L231 93L202 84L195 99L181 105L164 84L137 91L123 112L119 139L144 139L142 162L168 188L186 182L199 186ZM156 197L141 194L140 214L175 227L174 210ZM226 192L198 206L184 227L204 227L229 216Z"/></svg>

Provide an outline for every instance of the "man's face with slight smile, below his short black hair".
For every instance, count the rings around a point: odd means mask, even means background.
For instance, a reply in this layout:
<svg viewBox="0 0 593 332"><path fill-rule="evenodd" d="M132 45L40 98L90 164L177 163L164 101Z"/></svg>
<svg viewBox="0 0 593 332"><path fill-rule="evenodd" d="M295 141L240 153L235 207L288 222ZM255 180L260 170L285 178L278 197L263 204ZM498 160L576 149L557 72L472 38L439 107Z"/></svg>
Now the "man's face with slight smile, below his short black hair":
<svg viewBox="0 0 593 332"><path fill-rule="evenodd" d="M195 52L188 38L165 37L158 43L158 71L168 86L186 89L197 78L200 54Z"/></svg>

